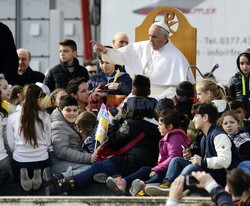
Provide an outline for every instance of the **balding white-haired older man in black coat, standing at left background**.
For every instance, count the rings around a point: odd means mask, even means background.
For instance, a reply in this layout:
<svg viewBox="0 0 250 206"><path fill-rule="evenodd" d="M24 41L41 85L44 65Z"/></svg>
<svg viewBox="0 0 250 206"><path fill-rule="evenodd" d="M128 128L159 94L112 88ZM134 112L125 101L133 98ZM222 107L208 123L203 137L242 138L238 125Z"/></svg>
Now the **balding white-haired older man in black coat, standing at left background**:
<svg viewBox="0 0 250 206"><path fill-rule="evenodd" d="M20 48L17 50L19 58L19 67L17 70L17 85L24 86L25 84L31 84L36 82L43 82L44 74L38 71L33 71L29 64L31 60L31 54L27 49Z"/></svg>

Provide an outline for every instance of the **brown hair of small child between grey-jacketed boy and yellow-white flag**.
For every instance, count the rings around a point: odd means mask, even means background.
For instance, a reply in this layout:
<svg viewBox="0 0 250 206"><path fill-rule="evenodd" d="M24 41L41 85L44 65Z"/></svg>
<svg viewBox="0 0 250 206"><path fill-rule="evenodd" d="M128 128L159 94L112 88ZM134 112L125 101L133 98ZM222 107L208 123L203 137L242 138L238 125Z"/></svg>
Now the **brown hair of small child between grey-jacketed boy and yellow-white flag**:
<svg viewBox="0 0 250 206"><path fill-rule="evenodd" d="M83 111L78 115L75 124L80 130L93 130L97 124L96 115L90 111Z"/></svg>

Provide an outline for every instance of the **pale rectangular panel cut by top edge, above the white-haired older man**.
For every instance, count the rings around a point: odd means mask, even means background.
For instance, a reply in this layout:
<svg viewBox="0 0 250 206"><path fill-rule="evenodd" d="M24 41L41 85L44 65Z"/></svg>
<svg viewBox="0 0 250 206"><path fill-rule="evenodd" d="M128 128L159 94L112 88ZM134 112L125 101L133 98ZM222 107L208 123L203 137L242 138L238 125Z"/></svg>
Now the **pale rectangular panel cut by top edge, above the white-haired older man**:
<svg viewBox="0 0 250 206"><path fill-rule="evenodd" d="M22 0L21 15L23 19L48 19L50 0Z"/></svg>

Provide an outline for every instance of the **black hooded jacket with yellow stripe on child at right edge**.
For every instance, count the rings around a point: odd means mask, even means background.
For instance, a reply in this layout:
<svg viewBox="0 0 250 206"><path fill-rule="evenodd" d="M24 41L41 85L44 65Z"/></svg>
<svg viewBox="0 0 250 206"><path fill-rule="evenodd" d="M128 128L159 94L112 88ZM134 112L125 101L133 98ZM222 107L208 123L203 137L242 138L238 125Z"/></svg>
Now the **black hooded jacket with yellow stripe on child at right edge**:
<svg viewBox="0 0 250 206"><path fill-rule="evenodd" d="M237 67L239 72L237 72L233 77L230 78L228 87L231 91L231 95L234 99L241 101L243 108L248 111L250 111L250 81L249 81L249 74L244 75L243 72L240 69L240 57L242 55L245 55L248 58L248 61L250 62L250 49L247 49L246 51L242 52L237 60Z"/></svg>

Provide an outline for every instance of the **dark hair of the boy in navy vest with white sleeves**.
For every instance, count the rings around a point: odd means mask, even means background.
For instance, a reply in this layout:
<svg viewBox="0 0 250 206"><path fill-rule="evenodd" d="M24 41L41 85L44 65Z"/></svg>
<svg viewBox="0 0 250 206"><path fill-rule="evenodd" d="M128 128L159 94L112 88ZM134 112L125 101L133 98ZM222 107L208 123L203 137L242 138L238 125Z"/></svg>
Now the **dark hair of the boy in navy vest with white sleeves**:
<svg viewBox="0 0 250 206"><path fill-rule="evenodd" d="M196 114L200 114L202 117L207 114L208 121L213 124L216 123L219 113L217 108L211 103L198 103L193 104L192 107L192 115L195 116Z"/></svg>

